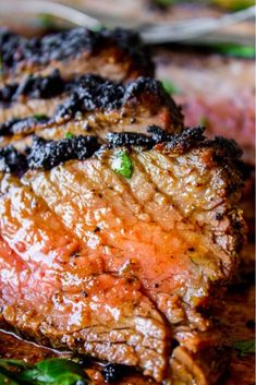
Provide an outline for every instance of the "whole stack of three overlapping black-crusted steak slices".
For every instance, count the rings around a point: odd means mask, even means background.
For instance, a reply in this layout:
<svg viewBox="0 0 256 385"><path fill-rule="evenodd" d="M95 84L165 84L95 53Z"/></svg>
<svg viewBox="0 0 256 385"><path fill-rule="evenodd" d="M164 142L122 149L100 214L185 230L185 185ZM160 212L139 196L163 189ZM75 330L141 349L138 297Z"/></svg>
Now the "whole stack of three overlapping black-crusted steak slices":
<svg viewBox="0 0 256 385"><path fill-rule="evenodd" d="M122 31L1 33L1 317L158 383L215 384L210 302L245 240L242 153L184 128L138 47Z"/></svg>

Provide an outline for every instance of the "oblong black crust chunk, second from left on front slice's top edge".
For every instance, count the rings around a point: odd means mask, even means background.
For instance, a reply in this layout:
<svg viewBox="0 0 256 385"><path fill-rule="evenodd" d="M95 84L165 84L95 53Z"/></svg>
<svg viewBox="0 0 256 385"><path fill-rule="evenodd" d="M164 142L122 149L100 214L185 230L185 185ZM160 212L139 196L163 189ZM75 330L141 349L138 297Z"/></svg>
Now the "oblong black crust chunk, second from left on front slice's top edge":
<svg viewBox="0 0 256 385"><path fill-rule="evenodd" d="M99 148L96 136L73 136L61 141L45 141L34 137L33 146L27 156L31 169L49 170L70 159L84 160Z"/></svg>

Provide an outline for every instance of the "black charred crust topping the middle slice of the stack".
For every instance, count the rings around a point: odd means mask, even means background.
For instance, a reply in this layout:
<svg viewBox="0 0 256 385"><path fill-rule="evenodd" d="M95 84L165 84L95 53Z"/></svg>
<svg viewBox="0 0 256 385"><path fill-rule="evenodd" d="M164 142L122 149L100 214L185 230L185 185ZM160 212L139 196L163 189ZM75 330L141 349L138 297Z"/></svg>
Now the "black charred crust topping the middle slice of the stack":
<svg viewBox="0 0 256 385"><path fill-rule="evenodd" d="M53 76L53 77L51 77ZM40 93L37 85L40 84L44 87L44 92L49 95L52 82L54 83L59 79L59 74L56 71L51 76L48 77L28 77L25 85L20 89L27 89L28 96L34 97ZM49 81L49 77L51 80ZM42 83L40 80L42 80ZM32 83L31 83L32 82ZM28 86L26 85L28 84ZM48 88L49 87L49 88ZM64 85L64 88L70 93L69 98L62 105L59 105L53 117L35 116L23 119L13 118L0 124L0 136L13 135L31 132L33 128L40 124L41 128L53 122L60 123L61 121L68 121L72 118L81 117L82 113L102 109L105 111L111 111L121 109L129 103L136 103L139 97L155 97L159 105L169 106L174 110L174 103L164 92L161 83L150 77L138 77L136 81L123 85L119 82L109 81L97 75L84 75L73 82L69 82ZM59 88L61 89L61 87ZM15 97L15 93L14 96ZM41 96L40 96L41 97ZM0 96L1 100L1 96ZM179 110L178 110L179 111ZM176 120L176 124L181 120L181 113L173 119Z"/></svg>

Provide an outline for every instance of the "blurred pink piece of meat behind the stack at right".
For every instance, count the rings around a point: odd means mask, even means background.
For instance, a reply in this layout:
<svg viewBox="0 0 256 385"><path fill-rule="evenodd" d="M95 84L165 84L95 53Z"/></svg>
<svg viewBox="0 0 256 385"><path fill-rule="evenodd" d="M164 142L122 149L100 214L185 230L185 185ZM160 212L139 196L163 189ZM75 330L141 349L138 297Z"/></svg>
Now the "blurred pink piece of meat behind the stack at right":
<svg viewBox="0 0 256 385"><path fill-rule="evenodd" d="M202 124L210 136L234 139L244 151L244 160L254 165L254 60L162 49L155 58L157 76L173 84L185 125Z"/></svg>

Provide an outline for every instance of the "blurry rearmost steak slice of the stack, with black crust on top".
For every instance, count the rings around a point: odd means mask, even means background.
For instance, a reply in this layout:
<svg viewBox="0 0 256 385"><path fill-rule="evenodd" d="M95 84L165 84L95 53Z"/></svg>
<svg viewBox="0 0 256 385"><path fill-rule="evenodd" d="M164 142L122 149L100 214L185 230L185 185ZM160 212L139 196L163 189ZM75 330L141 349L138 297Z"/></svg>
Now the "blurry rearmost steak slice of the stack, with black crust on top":
<svg viewBox="0 0 256 385"><path fill-rule="evenodd" d="M118 81L153 75L153 62L136 33L74 28L39 38L0 29L2 84L58 69L64 79L95 73Z"/></svg>

